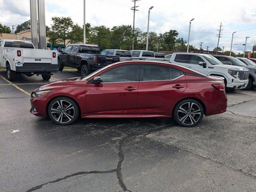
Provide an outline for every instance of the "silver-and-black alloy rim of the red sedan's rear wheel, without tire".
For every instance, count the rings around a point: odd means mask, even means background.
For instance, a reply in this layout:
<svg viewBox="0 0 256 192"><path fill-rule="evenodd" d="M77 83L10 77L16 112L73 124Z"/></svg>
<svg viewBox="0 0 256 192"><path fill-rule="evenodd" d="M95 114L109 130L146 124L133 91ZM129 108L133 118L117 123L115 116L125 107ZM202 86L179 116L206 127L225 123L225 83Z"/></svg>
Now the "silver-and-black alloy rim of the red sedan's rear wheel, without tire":
<svg viewBox="0 0 256 192"><path fill-rule="evenodd" d="M200 116L200 107L194 102L186 102L178 109L178 119L186 125L195 124L200 119Z"/></svg>

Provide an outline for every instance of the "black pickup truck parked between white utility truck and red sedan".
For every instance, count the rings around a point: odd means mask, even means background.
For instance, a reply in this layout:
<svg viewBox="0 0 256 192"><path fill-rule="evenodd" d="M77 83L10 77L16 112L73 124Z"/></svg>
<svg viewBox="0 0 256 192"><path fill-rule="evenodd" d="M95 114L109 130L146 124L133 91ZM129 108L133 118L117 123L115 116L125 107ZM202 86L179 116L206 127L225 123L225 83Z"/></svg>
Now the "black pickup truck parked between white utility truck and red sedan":
<svg viewBox="0 0 256 192"><path fill-rule="evenodd" d="M92 71L119 61L119 56L100 55L97 45L70 44L58 53L58 68L74 67L87 76Z"/></svg>

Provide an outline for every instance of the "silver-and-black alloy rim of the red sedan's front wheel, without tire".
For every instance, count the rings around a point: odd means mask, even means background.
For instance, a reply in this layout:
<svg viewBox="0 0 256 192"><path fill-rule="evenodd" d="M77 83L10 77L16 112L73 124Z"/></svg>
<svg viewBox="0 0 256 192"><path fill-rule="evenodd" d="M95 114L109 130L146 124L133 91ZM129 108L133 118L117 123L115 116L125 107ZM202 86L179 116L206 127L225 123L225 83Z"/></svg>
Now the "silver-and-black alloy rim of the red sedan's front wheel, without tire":
<svg viewBox="0 0 256 192"><path fill-rule="evenodd" d="M66 100L58 100L52 105L51 114L57 122L70 122L75 115L74 106Z"/></svg>

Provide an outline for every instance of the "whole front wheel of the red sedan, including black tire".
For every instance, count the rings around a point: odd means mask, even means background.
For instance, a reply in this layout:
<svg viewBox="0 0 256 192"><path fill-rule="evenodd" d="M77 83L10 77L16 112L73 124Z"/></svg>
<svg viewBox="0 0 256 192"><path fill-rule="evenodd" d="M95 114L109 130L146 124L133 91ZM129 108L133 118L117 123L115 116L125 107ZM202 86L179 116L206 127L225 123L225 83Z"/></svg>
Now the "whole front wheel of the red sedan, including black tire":
<svg viewBox="0 0 256 192"><path fill-rule="evenodd" d="M78 105L76 102L74 102L74 100L68 97L57 97L53 99L50 102L47 110L50 119L59 125L72 124L77 120L79 116ZM58 110L60 112L58 112Z"/></svg>

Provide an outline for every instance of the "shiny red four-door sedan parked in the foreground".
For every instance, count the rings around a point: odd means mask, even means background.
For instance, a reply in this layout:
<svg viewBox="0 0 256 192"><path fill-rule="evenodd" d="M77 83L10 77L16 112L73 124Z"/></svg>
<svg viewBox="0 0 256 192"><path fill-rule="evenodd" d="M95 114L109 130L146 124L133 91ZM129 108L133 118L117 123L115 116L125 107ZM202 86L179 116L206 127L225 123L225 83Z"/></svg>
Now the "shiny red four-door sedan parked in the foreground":
<svg viewBox="0 0 256 192"><path fill-rule="evenodd" d="M78 117L173 117L179 125L192 127L203 115L227 108L223 78L152 61L111 64L83 78L41 86L31 97L32 114L60 125Z"/></svg>

